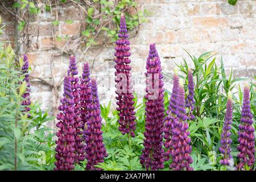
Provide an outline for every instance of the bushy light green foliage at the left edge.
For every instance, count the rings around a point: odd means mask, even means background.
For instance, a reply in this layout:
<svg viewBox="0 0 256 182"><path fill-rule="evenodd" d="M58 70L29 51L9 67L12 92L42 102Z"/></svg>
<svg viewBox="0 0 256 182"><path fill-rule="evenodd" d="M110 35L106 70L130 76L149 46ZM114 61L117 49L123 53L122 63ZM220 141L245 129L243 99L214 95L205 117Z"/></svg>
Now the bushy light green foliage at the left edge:
<svg viewBox="0 0 256 182"><path fill-rule="evenodd" d="M31 104L27 117L21 105L27 84L11 46L0 47L0 170L52 169L54 151L46 122L53 118ZM20 84L22 83L22 84Z"/></svg>

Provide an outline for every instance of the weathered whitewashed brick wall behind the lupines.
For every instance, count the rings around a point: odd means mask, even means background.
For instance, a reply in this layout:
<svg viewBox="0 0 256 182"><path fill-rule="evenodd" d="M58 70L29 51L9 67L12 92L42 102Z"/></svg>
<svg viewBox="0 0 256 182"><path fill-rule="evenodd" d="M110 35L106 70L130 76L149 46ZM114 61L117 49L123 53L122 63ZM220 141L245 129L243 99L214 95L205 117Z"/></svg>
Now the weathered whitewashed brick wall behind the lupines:
<svg viewBox="0 0 256 182"><path fill-rule="evenodd" d="M235 76L253 77L256 75L256 1L239 0L236 6L229 5L227 0L138 0L139 9L147 9L152 14L147 16L148 23L139 28L137 37L131 39L131 60L135 92L142 98L145 88L145 65L148 55L148 44L156 43L162 61L163 72L172 75L175 63L180 63L183 57L189 60L187 53L199 56L205 51L218 52L223 56L227 69L233 68ZM72 37L75 44L79 41L79 14L75 7L65 7L59 15L59 34ZM65 24L65 18L73 19L74 23ZM32 66L31 75L51 81L51 72L55 81L67 71L68 56L57 56L50 67L52 53L56 47L63 47L65 41L53 44L51 28L52 17L44 16L42 21L31 22L30 31L32 49L28 59ZM10 22L10 27L13 26ZM39 28L39 34L37 34ZM39 35L39 36L37 36ZM70 45L69 45L70 46ZM184 49L183 49L184 48ZM114 101L114 46L91 48L85 54L84 47L75 52L79 60L79 71L83 61L93 64L92 76L97 78L98 93L101 104ZM95 57L97 55L97 57ZM191 63L191 61L189 61ZM43 102L43 107L51 109L51 86L40 79L32 80L34 99ZM171 89L171 80L166 78L166 89ZM62 88L59 89L59 93Z"/></svg>

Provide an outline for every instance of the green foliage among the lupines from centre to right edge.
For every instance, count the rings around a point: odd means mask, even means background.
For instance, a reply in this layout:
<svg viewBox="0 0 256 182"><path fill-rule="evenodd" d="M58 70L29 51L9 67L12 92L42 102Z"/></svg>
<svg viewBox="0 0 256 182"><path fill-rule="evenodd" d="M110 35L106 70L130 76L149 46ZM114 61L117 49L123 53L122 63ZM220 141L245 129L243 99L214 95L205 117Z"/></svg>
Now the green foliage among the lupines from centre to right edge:
<svg viewBox="0 0 256 182"><path fill-rule="evenodd" d="M233 78L232 71L229 76L225 73L223 61L217 66L216 58L210 52L203 53L198 58L190 56L193 61L193 76L195 81L195 98L196 109L193 114L196 115L195 121L189 122L189 131L192 144L191 167L194 170L234 170L234 168L224 168L220 165L221 154L218 151L220 147L220 135L222 125L224 123L226 100L228 90L233 90L237 81L245 80L245 78ZM180 65L180 77L185 80L185 90L187 90L188 64L184 59ZM168 76L168 75L166 75ZM171 76L168 76L171 77ZM238 85L239 87L239 85ZM239 89L238 89L239 90ZM170 96L169 90L164 95L164 105L167 109ZM239 98L237 98L237 95ZM144 170L139 163L143 149L144 139L144 109L145 100L141 104L137 103L137 94L134 94L135 107L137 110L137 129L135 130L135 138L129 138L122 135L118 130L118 114L117 110L112 111L110 117L110 103L108 106L101 106L101 116L104 118L105 124L102 126L104 131L104 143L109 156L104 163L100 163L97 167L104 170ZM234 156L234 165L237 164L237 138L238 124L241 118L242 90L238 93L233 92L234 111L232 125L232 155ZM251 82L251 107L255 119L255 84ZM198 108L197 108L198 107ZM170 170L169 164L164 162L164 171Z"/></svg>

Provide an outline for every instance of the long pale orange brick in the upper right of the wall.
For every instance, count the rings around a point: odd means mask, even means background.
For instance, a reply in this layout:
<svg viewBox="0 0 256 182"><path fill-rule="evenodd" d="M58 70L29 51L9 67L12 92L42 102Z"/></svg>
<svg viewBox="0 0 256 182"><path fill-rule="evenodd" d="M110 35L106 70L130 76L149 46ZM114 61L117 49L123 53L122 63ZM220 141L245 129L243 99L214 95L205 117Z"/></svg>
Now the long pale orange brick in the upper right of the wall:
<svg viewBox="0 0 256 182"><path fill-rule="evenodd" d="M196 28L221 27L221 26L226 26L227 24L228 24L228 20L226 18L214 18L214 17L193 18L193 26Z"/></svg>

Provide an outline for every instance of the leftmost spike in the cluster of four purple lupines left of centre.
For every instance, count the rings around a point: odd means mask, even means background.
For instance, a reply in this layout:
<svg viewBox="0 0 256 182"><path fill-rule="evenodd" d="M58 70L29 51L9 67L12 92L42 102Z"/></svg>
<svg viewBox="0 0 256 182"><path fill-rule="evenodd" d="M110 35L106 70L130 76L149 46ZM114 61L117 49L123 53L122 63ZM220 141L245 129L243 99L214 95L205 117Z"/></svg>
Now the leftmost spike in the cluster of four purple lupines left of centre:
<svg viewBox="0 0 256 182"><path fill-rule="evenodd" d="M60 113L57 114L59 122L56 124L59 127L56 136L55 154L55 170L67 171L72 170L75 166L75 102L73 100L73 89L68 77L64 79L64 93L60 100L61 104L58 109Z"/></svg>

